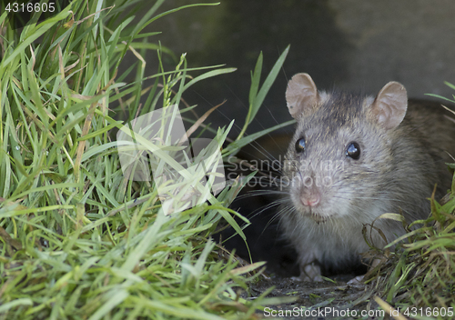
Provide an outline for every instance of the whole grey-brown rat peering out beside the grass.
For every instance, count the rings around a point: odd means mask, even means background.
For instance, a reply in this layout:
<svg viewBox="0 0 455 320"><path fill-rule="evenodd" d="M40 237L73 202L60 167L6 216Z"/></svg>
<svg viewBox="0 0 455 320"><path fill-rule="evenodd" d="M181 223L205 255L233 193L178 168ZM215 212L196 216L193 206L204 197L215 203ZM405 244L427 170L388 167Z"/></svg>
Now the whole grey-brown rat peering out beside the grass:
<svg viewBox="0 0 455 320"><path fill-rule="evenodd" d="M455 155L455 123L439 104L410 100L390 82L375 97L319 92L307 74L294 75L286 92L297 129L285 156L288 196L281 225L298 252L301 277L320 280L321 266L360 262L373 245L405 233L399 221L426 219L434 185L450 188L445 163ZM448 155L448 153L450 155Z"/></svg>

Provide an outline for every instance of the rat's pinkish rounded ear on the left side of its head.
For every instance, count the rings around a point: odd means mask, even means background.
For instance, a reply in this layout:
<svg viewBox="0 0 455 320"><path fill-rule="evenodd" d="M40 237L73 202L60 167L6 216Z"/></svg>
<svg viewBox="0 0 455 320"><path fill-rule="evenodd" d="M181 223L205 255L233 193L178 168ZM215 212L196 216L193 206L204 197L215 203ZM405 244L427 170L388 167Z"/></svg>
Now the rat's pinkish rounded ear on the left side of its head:
<svg viewBox="0 0 455 320"><path fill-rule="evenodd" d="M288 82L286 101L289 114L297 118L306 109L313 108L319 102L319 94L313 79L308 74L297 74Z"/></svg>

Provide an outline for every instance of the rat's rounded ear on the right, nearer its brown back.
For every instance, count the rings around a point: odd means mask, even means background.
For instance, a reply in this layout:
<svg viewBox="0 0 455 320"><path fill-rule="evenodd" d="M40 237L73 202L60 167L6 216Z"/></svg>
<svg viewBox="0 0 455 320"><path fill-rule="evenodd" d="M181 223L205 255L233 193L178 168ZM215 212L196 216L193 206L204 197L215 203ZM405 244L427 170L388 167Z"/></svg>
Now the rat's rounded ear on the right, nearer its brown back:
<svg viewBox="0 0 455 320"><path fill-rule="evenodd" d="M387 130L397 127L403 121L408 108L408 95L403 85L391 81L380 89L371 111L379 124Z"/></svg>

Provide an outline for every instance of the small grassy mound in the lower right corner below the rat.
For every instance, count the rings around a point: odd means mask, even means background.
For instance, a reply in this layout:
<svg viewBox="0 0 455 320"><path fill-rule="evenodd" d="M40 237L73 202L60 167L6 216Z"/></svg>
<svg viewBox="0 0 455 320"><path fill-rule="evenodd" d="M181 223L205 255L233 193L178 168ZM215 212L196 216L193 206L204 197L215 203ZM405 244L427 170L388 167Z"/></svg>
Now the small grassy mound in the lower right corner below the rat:
<svg viewBox="0 0 455 320"><path fill-rule="evenodd" d="M455 96L454 100L433 96L455 103ZM455 164L449 167L455 170ZM433 196L430 202L430 218L414 222L423 226L389 244L389 248L397 245L394 252L386 247L376 256L381 263L370 273L370 289L381 297L376 299L384 310L393 305L410 318L451 319L455 316L455 175L449 194L440 202Z"/></svg>

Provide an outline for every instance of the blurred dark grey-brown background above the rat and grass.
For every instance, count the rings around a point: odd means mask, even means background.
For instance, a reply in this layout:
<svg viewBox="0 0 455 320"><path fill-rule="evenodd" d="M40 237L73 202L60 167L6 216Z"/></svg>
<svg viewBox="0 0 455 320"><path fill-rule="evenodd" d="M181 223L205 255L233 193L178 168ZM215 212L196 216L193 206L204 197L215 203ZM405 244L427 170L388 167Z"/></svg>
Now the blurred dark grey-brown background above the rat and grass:
<svg viewBox="0 0 455 320"><path fill-rule="evenodd" d="M167 0L160 12L198 3ZM262 79L290 46L283 70L272 86L256 132L290 118L284 93L288 79L311 75L320 89L339 88L376 95L389 81L399 81L412 97L451 97L444 81L455 83L455 3L450 0L221 0L217 6L187 8L150 25L177 55L187 53L189 66L237 67L192 87L186 95L197 110L227 104L209 120L243 125L248 106L250 71L264 55ZM157 55L148 52L148 74L156 72ZM235 136L235 135L234 135Z"/></svg>

